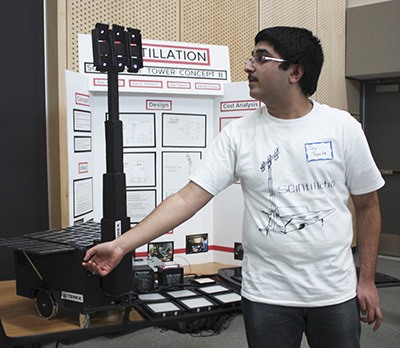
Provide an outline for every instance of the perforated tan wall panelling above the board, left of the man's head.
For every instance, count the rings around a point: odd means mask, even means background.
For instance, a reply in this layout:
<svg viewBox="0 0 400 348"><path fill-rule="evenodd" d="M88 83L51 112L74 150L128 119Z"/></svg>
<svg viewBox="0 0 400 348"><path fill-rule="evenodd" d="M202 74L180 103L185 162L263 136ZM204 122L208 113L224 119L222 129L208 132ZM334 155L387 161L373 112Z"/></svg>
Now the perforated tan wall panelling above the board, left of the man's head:
<svg viewBox="0 0 400 348"><path fill-rule="evenodd" d="M232 80L242 81L243 62L259 28L258 0L238 6L228 0L72 0L67 7L68 69L73 71L78 71L78 33L89 34L102 22L139 28L144 39L228 45Z"/></svg>

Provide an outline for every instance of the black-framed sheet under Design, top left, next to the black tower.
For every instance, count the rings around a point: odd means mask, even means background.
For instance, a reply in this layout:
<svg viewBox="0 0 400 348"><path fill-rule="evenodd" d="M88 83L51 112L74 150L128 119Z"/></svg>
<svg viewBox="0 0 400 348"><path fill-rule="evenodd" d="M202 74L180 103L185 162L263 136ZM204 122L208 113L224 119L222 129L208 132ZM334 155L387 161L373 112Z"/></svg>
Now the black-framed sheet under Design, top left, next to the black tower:
<svg viewBox="0 0 400 348"><path fill-rule="evenodd" d="M156 114L123 112L119 118L122 121L124 147L156 146Z"/></svg>

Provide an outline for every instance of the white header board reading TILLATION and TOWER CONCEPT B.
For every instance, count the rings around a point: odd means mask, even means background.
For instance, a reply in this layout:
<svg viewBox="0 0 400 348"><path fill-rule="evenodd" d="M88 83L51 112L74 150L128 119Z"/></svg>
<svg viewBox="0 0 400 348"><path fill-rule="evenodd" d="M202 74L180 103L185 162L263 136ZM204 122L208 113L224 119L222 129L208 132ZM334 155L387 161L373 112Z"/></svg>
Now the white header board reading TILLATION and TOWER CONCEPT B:
<svg viewBox="0 0 400 348"><path fill-rule="evenodd" d="M93 65L90 35L79 35L79 72L93 92L107 90L107 76ZM226 46L142 40L143 68L119 74L120 92L179 95L223 95L230 82Z"/></svg>

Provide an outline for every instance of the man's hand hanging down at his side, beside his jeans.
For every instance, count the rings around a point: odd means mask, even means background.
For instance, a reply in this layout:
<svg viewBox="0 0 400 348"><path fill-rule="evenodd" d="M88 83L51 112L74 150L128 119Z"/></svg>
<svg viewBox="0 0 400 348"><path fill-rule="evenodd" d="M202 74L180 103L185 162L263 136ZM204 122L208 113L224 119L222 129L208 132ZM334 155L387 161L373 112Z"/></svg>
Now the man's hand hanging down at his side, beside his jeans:
<svg viewBox="0 0 400 348"><path fill-rule="evenodd" d="M360 304L361 321L374 325L374 331L381 326L383 315L379 294L374 282L360 282L357 286L358 303Z"/></svg>

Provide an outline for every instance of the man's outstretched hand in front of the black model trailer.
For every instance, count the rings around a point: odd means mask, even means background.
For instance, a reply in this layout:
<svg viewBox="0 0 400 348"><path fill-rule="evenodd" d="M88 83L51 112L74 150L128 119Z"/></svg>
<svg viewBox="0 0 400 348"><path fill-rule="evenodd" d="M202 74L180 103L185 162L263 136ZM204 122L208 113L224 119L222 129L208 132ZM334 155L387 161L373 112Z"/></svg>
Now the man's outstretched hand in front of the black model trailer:
<svg viewBox="0 0 400 348"><path fill-rule="evenodd" d="M120 263L123 256L122 249L113 242L101 243L86 252L82 266L104 277Z"/></svg>

